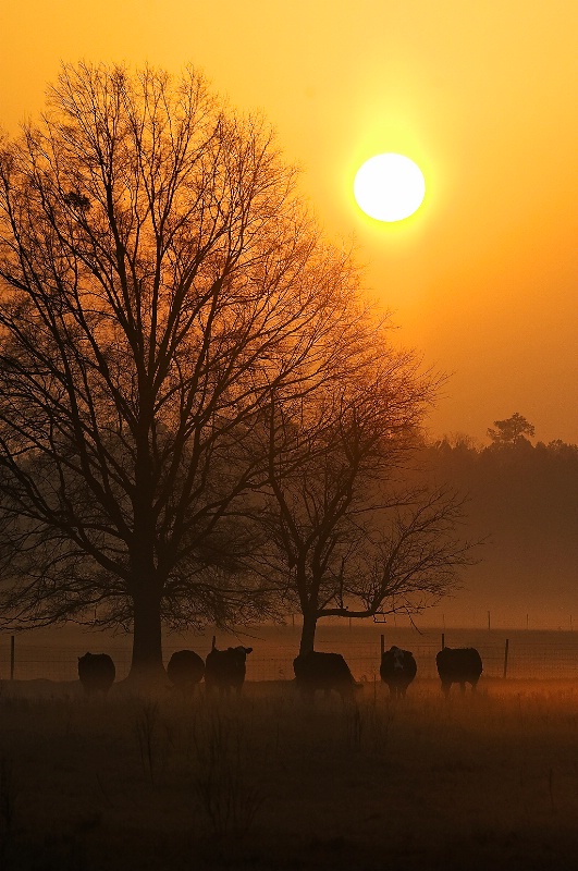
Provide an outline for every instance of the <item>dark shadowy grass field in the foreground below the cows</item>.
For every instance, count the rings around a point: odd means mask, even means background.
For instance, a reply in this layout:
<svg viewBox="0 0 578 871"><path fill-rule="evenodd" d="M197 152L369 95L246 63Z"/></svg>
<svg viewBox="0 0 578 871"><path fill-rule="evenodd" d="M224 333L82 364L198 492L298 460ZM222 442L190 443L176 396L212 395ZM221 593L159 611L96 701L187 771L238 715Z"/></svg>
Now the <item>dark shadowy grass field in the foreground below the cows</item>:
<svg viewBox="0 0 578 871"><path fill-rule="evenodd" d="M0 685L0 868L578 868L578 688L390 702Z"/></svg>

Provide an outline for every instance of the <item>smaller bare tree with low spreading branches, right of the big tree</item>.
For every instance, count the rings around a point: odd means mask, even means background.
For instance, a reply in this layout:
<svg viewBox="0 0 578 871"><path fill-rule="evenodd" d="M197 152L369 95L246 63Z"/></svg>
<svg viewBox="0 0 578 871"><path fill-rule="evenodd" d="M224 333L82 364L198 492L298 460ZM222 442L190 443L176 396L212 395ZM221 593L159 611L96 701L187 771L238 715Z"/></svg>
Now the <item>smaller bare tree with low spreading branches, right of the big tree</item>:
<svg viewBox="0 0 578 871"><path fill-rule="evenodd" d="M436 379L368 324L351 369L306 400L271 405L260 519L267 573L303 614L300 653L322 617L416 614L471 562L462 503L404 480Z"/></svg>

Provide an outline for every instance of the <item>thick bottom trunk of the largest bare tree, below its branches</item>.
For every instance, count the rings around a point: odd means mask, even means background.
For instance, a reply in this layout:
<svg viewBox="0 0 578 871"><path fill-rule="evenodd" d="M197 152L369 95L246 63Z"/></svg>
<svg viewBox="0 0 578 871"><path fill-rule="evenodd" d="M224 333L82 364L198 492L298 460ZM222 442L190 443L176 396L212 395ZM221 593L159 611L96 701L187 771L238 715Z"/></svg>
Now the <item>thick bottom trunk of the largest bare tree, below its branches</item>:
<svg viewBox="0 0 578 871"><path fill-rule="evenodd" d="M162 664L161 596L150 589L134 597L131 679L164 677Z"/></svg>

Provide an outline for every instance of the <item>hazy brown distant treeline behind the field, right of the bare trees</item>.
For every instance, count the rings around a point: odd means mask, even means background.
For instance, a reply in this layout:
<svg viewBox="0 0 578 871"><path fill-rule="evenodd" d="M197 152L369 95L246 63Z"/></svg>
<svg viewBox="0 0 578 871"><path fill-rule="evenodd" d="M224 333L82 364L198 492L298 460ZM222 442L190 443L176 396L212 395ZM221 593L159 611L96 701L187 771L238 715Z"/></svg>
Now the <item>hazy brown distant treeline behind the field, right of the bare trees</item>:
<svg viewBox="0 0 578 871"><path fill-rule="evenodd" d="M512 421L524 431L512 434ZM488 432L487 446L454 436L422 449L426 474L466 499L466 535L484 539L459 600L544 619L577 615L578 445L532 444L533 427L519 415Z"/></svg>

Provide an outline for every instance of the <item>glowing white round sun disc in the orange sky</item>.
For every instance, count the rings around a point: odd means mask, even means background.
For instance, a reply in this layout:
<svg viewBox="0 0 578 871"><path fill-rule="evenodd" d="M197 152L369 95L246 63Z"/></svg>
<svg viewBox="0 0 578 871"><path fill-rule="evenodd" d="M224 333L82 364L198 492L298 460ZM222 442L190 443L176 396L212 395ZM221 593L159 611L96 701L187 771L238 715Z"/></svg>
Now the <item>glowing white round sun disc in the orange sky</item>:
<svg viewBox="0 0 578 871"><path fill-rule="evenodd" d="M426 181L416 163L404 155L388 152L369 158L354 181L359 208L378 221L403 221L423 201Z"/></svg>

